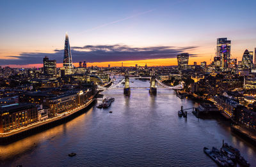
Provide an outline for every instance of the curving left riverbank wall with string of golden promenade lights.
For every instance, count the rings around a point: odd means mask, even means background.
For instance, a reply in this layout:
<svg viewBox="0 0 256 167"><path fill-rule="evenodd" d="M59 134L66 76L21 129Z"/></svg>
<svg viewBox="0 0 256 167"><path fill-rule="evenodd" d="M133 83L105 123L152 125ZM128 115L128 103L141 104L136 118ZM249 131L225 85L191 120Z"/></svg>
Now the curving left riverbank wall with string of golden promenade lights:
<svg viewBox="0 0 256 167"><path fill-rule="evenodd" d="M46 129L58 126L60 124L68 122L69 120L74 119L78 115L81 115L81 113L86 112L86 109L88 107L92 106L93 102L95 101L96 95L97 93L95 93L90 99L88 99L88 101L84 105L78 106L73 110L62 113L57 117L47 119L42 122L36 122L26 127L21 127L20 129L9 133L0 134L0 145L7 145L22 138L26 138L27 136L30 136L32 134L45 131Z"/></svg>

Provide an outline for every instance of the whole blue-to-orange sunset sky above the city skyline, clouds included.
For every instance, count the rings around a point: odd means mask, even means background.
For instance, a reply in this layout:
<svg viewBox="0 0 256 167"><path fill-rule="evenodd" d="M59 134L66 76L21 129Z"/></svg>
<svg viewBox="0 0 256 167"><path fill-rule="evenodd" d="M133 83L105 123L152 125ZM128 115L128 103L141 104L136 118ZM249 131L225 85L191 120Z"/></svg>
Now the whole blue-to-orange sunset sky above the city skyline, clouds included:
<svg viewBox="0 0 256 167"><path fill-rule="evenodd" d="M216 39L231 40L232 57L256 47L256 1L0 1L0 66L62 66L65 33L72 59L88 66L171 66L210 62Z"/></svg>

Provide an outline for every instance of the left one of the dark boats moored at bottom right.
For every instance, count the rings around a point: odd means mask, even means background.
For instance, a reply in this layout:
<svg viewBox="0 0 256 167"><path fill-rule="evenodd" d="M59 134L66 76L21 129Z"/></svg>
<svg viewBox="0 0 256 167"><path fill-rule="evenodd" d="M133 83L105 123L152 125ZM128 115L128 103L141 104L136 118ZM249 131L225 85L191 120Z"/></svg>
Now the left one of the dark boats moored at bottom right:
<svg viewBox="0 0 256 167"><path fill-rule="evenodd" d="M215 147L212 147L212 150L208 149L207 147L204 147L204 153L207 156L211 157L211 159L219 166L221 167L230 166L225 160L225 158L221 156L221 154L219 154L218 149L216 149Z"/></svg>

